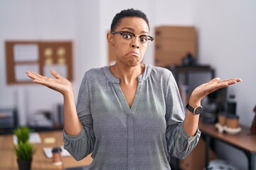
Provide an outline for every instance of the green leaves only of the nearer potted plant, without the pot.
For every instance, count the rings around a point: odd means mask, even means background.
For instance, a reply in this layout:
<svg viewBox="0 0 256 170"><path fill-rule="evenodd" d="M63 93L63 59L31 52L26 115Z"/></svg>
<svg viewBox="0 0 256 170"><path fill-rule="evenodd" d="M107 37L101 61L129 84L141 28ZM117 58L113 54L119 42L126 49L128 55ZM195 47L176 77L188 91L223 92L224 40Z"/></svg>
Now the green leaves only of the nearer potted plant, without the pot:
<svg viewBox="0 0 256 170"><path fill-rule="evenodd" d="M35 149L33 149L33 145L28 142L18 142L18 145L14 146L15 154L17 156L18 160L31 160L33 157L33 154L35 153Z"/></svg>

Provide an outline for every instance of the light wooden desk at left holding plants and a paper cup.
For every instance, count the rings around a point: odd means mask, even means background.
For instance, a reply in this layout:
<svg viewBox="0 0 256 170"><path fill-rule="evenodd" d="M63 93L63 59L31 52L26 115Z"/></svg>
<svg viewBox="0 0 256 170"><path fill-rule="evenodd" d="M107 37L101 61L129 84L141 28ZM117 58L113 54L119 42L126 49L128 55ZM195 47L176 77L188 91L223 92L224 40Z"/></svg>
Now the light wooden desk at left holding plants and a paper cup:
<svg viewBox="0 0 256 170"><path fill-rule="evenodd" d="M33 155L33 162L31 169L65 169L76 166L86 166L92 162L90 155L81 161L76 161L73 157L63 157L63 165L55 166L52 159L49 159L43 153L43 147L63 146L63 131L49 131L39 132L42 142L40 144L33 144L36 148L36 153ZM43 140L46 137L55 137L55 144L46 144ZM14 153L14 142L12 135L0 135L0 169L14 170L18 169L16 162L16 155Z"/></svg>

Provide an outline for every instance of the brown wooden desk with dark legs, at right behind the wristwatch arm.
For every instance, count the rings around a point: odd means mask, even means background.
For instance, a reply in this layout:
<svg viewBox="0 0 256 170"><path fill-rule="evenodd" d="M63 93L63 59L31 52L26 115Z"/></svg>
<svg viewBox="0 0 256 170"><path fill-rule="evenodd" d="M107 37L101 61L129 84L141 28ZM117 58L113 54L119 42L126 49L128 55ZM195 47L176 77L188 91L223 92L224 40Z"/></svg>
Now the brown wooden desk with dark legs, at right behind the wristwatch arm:
<svg viewBox="0 0 256 170"><path fill-rule="evenodd" d="M242 150L248 159L248 169L255 170L256 158L256 135L250 134L249 128L242 127L241 132L236 135L228 135L219 133L215 124L199 123L199 130L206 135L206 167L208 167L208 149L210 147L210 139L220 140L225 144Z"/></svg>

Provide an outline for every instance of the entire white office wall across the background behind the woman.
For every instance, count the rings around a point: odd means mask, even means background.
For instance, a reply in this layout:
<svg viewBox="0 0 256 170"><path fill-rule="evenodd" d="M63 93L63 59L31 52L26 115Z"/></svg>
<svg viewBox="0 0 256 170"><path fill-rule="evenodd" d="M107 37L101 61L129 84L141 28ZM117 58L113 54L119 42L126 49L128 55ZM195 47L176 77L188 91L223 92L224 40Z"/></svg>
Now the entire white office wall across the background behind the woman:
<svg viewBox="0 0 256 170"><path fill-rule="evenodd" d="M40 109L51 110L63 98L37 85L7 86L5 40L73 40L74 91L90 68L107 64L106 32L114 14L124 8L144 11L154 35L160 25L194 25L198 30L198 59L211 64L217 76L240 77L242 83L231 86L237 96L240 123L249 127L256 104L256 1L203 0L0 0L0 107L18 106L21 125L26 116ZM154 63L154 42L147 49L144 62ZM243 153L220 144L221 155L232 159L240 169L247 169ZM222 154L225 150L225 154ZM235 153L235 154L234 154ZM236 159L233 155L239 155Z"/></svg>

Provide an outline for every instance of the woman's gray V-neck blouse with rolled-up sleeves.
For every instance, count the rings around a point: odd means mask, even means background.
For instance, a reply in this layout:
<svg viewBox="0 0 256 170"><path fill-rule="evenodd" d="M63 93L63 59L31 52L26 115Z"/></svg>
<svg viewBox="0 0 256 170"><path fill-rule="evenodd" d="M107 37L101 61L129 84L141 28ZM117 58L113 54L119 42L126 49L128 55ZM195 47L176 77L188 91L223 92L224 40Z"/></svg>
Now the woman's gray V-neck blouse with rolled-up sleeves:
<svg viewBox="0 0 256 170"><path fill-rule="evenodd" d="M184 158L196 146L200 130L183 129L184 108L168 69L145 64L129 108L119 79L109 67L90 69L82 79L77 112L82 130L63 132L64 147L77 160L92 152L89 169L171 169L170 157Z"/></svg>

